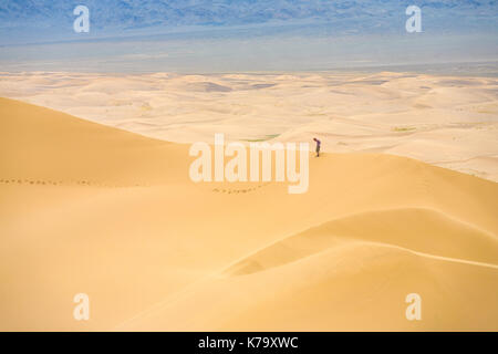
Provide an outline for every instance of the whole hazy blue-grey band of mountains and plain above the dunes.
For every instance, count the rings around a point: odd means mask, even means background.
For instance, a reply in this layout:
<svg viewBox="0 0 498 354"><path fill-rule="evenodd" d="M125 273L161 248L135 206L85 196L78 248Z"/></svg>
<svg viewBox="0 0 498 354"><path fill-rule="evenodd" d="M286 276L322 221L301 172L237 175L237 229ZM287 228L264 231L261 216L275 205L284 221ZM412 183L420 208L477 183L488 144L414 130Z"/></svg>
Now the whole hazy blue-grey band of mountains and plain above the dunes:
<svg viewBox="0 0 498 354"><path fill-rule="evenodd" d="M76 33L77 4L90 31ZM408 33L408 6L422 32ZM496 73L495 1L0 2L6 72L272 72L429 65ZM460 69L445 63L479 63ZM452 65L454 66L454 65ZM470 67L473 66L473 67ZM409 70L408 70L409 71Z"/></svg>

